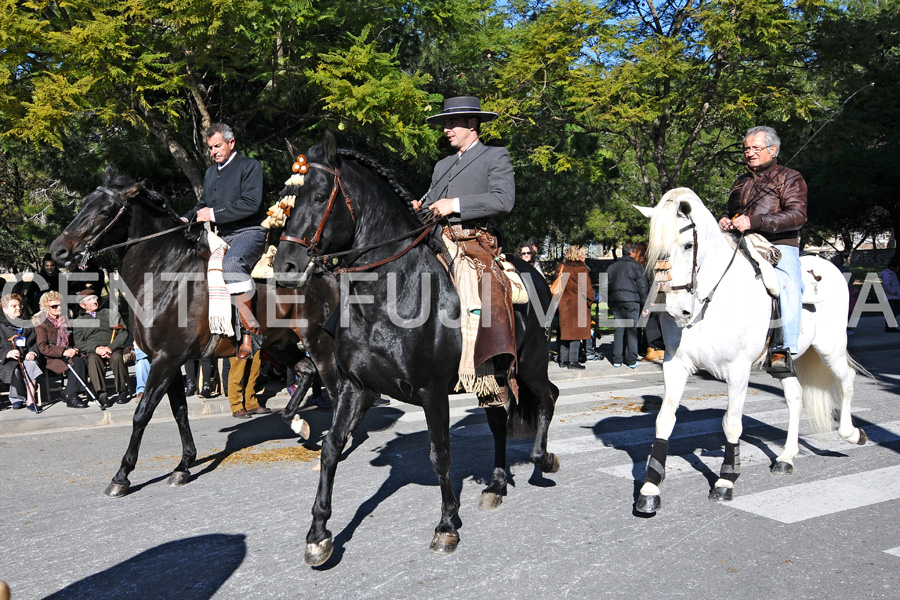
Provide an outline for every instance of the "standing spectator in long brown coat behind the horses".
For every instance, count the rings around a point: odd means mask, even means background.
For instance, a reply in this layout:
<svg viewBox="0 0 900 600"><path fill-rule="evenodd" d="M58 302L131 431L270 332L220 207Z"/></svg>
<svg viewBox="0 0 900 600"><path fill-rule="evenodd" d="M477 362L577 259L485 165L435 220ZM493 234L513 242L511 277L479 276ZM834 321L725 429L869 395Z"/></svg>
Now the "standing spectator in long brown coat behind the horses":
<svg viewBox="0 0 900 600"><path fill-rule="evenodd" d="M591 337L594 290L591 287L591 272L584 264L586 257L587 251L583 246L569 246L566 258L557 271L557 277L568 275L559 300L559 366L562 368L584 368L578 362L578 354L582 340Z"/></svg>

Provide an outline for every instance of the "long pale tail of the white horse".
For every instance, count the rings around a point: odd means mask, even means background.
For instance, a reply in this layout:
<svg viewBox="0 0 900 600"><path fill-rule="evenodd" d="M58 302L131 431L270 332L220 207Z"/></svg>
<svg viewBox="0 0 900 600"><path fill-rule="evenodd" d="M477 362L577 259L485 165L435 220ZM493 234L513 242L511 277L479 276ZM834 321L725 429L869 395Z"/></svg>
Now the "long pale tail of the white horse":
<svg viewBox="0 0 900 600"><path fill-rule="evenodd" d="M847 366L856 373L872 374L849 354ZM834 429L834 410L843 396L841 382L822 361L815 348L810 348L794 361L797 379L803 388L803 406L813 431L824 433Z"/></svg>

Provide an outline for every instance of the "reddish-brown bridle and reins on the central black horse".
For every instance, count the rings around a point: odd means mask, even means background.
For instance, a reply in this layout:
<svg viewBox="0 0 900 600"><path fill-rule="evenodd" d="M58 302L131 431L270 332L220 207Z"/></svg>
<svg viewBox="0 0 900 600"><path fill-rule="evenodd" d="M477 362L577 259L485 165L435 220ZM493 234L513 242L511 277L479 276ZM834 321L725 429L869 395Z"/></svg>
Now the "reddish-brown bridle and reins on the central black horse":
<svg viewBox="0 0 900 600"><path fill-rule="evenodd" d="M361 254L366 252L367 250L372 250L374 248L381 248L383 246L387 246L389 244L393 244L394 242L398 242L400 240L406 239L410 236L417 235L416 239L413 240L411 244L403 248L397 254L390 256L388 258L375 261L373 263L368 263L365 265L359 265L355 267L342 267L340 269L334 269L335 272L339 273L357 273L360 271L367 271L369 269L374 269L375 267L380 267L381 265L385 265L389 262L397 260L410 250L412 250L415 246L419 244L425 237L431 233L434 228L437 226L437 221L433 221L431 223L427 223L424 226L414 229L409 233L405 233L403 235L397 236L390 240L379 242L377 244L372 244L370 246L364 246L362 248L353 248L352 250L345 250L343 252L332 252L329 254L322 254L318 245L322 241L322 231L325 229L325 223L328 221L328 217L331 216L331 212L334 209L334 205L337 201L337 193L340 190L341 194L344 197L344 202L347 204L347 209L350 211L350 218L353 220L353 223L356 223L356 211L353 208L353 203L350 200L349 194L344 190L344 183L341 180L341 170L339 167L335 167L332 169L327 165L323 165L320 163L308 163L306 162L306 157L302 154L297 157L297 162L294 163L293 170L295 173L299 173L304 175L308 172L309 169L318 169L320 171L325 171L334 176L334 184L331 187L331 195L328 198L328 205L325 207L325 212L322 215L322 219L319 221L319 226L316 227L316 232L313 234L312 239L307 239L306 237L298 238L292 235L282 235L279 240L282 242L291 242L294 244L300 244L304 248L307 249L308 253L312 256L312 260L310 260L310 265L307 268L307 275L310 272L310 269L314 268L314 264L318 263L319 266L324 267L325 263L331 259L338 258L341 256L346 256L349 254ZM301 180L302 181L302 180ZM303 185L301 182L300 185Z"/></svg>

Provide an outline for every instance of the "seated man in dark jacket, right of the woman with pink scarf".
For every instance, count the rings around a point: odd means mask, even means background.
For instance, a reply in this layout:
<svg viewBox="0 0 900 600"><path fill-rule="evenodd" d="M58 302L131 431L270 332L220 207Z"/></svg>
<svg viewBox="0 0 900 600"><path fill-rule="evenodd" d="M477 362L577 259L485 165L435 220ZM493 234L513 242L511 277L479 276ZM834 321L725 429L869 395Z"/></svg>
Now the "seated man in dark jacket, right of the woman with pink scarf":
<svg viewBox="0 0 900 600"><path fill-rule="evenodd" d="M100 407L106 409L116 402L128 404L128 368L122 357L125 340L128 338L125 325L113 322L109 309L100 308L100 299L90 288L79 294L78 305L81 312L72 323L75 347L87 361L88 377ZM115 398L110 398L106 392L107 361L115 381Z"/></svg>

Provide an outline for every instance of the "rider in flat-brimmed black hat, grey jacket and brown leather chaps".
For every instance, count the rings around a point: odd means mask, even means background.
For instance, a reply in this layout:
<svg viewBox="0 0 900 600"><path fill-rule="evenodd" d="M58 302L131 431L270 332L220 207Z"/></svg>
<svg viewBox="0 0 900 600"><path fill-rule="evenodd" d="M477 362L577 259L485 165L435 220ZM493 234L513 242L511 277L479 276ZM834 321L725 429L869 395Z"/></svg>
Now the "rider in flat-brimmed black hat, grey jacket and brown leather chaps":
<svg viewBox="0 0 900 600"><path fill-rule="evenodd" d="M485 146L478 139L481 123L495 118L497 113L481 110L478 98L459 96L445 100L443 112L426 119L443 127L457 152L438 162L422 201L413 203L413 208L424 207L450 222L444 239L454 258L454 283L464 313L460 387L477 394L482 406L506 403L507 379L516 389L511 379L516 356L512 295L495 260L500 248L490 224L493 217L512 211L516 182L506 148ZM482 285L485 278L489 285Z"/></svg>

